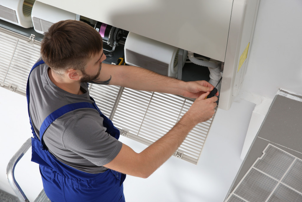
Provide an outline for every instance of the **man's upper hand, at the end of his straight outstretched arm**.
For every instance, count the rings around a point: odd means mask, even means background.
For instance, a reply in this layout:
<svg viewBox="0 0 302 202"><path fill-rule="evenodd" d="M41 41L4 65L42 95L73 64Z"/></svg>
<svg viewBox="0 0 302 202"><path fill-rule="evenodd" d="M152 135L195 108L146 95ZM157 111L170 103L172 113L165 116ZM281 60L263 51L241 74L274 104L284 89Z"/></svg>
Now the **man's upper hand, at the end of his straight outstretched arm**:
<svg viewBox="0 0 302 202"><path fill-rule="evenodd" d="M214 89L214 86L207 81L188 81L185 83L185 89L182 96L187 98L198 98L205 92L210 92ZM219 93L216 93L218 96Z"/></svg>

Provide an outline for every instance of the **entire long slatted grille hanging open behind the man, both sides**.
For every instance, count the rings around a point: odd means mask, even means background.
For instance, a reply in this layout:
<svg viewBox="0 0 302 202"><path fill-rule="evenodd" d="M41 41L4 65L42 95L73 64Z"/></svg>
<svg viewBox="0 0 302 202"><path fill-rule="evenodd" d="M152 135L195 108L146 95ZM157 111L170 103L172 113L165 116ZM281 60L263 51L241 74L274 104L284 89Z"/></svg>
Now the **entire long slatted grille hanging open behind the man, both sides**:
<svg viewBox="0 0 302 202"><path fill-rule="evenodd" d="M27 77L40 57L40 46L0 31L0 84L26 93ZM166 134L193 101L178 95L89 85L90 95L121 134L150 145ZM212 119L195 126L174 156L197 164Z"/></svg>

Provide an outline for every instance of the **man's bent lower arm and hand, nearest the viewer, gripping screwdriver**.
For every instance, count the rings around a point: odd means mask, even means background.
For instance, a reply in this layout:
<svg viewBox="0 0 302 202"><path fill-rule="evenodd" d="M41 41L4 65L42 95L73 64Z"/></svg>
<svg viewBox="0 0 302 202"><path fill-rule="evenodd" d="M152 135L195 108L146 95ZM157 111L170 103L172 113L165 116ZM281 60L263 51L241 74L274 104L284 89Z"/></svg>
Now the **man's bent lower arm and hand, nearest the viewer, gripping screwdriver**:
<svg viewBox="0 0 302 202"><path fill-rule="evenodd" d="M205 99L208 94L209 92L204 93L197 98L167 134L141 153L136 153L123 144L117 156L104 167L137 177L149 177L172 156L196 124L207 121L214 115L217 97Z"/></svg>

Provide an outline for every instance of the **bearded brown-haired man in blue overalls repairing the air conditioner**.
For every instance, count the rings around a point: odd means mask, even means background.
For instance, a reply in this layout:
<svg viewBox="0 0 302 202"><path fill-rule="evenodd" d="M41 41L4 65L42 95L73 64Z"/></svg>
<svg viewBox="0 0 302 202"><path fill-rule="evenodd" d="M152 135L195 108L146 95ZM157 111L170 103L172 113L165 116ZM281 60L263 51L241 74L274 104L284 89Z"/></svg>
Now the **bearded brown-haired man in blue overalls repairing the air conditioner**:
<svg viewBox="0 0 302 202"><path fill-rule="evenodd" d="M205 99L213 90L206 81L184 82L143 68L102 64L101 36L84 22L52 25L41 55L28 79L27 101L32 161L40 164L52 201L124 201L125 174L147 178L196 124L214 114L217 97ZM119 131L90 98L87 82L196 100L171 131L138 154L118 141Z"/></svg>

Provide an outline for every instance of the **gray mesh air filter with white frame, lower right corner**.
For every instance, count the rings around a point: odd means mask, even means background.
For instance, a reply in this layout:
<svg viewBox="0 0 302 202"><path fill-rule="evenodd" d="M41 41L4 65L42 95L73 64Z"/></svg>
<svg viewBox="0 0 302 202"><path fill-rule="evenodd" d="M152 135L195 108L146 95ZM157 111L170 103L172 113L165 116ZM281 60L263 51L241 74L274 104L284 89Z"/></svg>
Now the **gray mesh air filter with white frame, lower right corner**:
<svg viewBox="0 0 302 202"><path fill-rule="evenodd" d="M301 202L302 160L268 144L227 202L242 199L247 202Z"/></svg>

